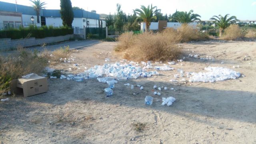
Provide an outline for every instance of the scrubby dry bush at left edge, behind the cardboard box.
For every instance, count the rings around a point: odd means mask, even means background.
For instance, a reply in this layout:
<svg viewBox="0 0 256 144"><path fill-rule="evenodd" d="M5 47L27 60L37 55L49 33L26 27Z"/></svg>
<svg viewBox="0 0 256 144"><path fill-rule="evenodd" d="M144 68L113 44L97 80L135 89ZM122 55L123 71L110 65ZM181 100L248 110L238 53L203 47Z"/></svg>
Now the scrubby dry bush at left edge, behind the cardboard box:
<svg viewBox="0 0 256 144"><path fill-rule="evenodd" d="M40 74L48 65L48 59L39 55L38 51L28 51L22 47L17 53L8 57L0 57L0 95L10 90L10 82L23 75Z"/></svg>

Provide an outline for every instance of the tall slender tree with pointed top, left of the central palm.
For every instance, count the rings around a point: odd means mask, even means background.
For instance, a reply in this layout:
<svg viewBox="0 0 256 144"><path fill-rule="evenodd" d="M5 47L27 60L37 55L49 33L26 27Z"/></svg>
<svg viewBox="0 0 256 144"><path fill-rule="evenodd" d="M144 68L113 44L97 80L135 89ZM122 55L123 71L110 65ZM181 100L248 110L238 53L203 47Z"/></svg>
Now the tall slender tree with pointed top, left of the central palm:
<svg viewBox="0 0 256 144"><path fill-rule="evenodd" d="M120 33L122 31L123 26L124 26L126 15L121 10L121 5L120 4L116 4L116 11L117 11L117 13L115 14L115 18L114 18L114 27Z"/></svg>

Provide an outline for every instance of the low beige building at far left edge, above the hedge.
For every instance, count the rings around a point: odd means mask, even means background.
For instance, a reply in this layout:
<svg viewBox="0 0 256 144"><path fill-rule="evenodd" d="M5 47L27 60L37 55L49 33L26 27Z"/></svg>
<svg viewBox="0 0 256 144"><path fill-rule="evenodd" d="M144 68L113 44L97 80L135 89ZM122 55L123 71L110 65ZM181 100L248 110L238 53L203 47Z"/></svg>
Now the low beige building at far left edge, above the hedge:
<svg viewBox="0 0 256 144"><path fill-rule="evenodd" d="M0 30L22 26L22 13L0 11Z"/></svg>

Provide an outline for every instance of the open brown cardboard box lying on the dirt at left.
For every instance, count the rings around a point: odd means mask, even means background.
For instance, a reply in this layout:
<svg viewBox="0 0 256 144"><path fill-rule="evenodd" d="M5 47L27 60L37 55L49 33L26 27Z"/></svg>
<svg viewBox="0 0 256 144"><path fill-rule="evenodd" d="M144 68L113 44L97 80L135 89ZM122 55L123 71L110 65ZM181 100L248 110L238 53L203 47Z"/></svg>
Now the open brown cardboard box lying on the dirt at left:
<svg viewBox="0 0 256 144"><path fill-rule="evenodd" d="M48 92L47 78L34 76L28 79L19 78L17 80L12 80L11 92L15 94L23 92L24 97Z"/></svg>

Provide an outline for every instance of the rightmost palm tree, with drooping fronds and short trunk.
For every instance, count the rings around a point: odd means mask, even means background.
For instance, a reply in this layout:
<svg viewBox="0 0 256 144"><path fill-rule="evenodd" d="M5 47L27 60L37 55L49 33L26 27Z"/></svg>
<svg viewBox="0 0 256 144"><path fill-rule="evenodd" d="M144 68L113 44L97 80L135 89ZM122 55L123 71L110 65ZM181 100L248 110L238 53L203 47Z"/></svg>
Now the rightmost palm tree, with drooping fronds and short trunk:
<svg viewBox="0 0 256 144"><path fill-rule="evenodd" d="M235 23L236 21L238 21L238 19L236 19L236 16L230 16L230 18L228 18L228 15L229 14L226 14L224 17L222 15L213 16L212 18L210 18L210 20L214 20L214 24L219 26L220 36L222 36L224 30L228 26L230 26L230 24Z"/></svg>

